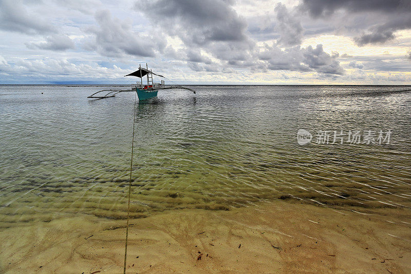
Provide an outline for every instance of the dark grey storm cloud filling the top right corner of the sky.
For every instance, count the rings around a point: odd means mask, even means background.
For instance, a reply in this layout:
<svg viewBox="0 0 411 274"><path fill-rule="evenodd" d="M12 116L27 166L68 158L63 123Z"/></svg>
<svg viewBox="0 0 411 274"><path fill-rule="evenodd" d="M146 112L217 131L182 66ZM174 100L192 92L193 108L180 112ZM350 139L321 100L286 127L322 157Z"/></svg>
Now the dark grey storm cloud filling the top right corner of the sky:
<svg viewBox="0 0 411 274"><path fill-rule="evenodd" d="M303 0L300 10L308 11L313 17L327 17L336 11L345 11L361 16L361 13L373 13L373 25L367 32L354 38L358 46L385 43L395 38L394 32L411 29L411 1L409 0ZM358 27L358 26L357 26Z"/></svg>

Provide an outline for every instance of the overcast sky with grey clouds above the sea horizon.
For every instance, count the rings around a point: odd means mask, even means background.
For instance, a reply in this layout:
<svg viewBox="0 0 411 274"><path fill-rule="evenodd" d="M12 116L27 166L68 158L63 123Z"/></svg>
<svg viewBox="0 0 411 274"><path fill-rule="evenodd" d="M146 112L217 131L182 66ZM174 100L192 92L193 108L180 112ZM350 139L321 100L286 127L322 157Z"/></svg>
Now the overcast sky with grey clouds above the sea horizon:
<svg viewBox="0 0 411 274"><path fill-rule="evenodd" d="M0 0L1 84L410 84L410 50L409 0Z"/></svg>

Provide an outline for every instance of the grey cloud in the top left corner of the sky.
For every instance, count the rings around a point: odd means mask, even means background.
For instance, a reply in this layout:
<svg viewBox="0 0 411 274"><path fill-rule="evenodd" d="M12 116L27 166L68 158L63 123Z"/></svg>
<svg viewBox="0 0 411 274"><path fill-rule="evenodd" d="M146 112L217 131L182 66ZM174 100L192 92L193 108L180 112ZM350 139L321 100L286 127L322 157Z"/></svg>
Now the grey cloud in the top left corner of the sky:
<svg viewBox="0 0 411 274"><path fill-rule="evenodd" d="M29 13L22 1L18 0L0 0L0 29L26 34L57 32L38 15Z"/></svg>

